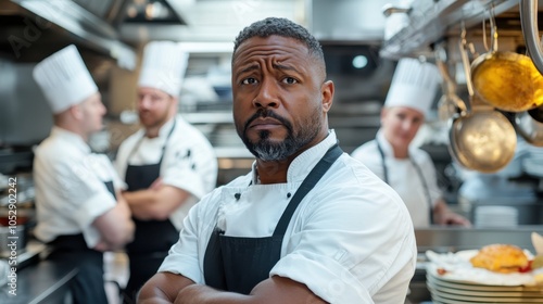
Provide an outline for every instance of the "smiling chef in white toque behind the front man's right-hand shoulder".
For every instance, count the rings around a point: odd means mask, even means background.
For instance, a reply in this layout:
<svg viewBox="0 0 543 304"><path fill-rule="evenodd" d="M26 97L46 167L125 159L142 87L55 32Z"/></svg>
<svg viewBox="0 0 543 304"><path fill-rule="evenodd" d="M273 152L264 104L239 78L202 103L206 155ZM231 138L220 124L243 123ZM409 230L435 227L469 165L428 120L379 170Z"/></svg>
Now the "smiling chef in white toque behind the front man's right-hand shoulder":
<svg viewBox="0 0 543 304"><path fill-rule="evenodd" d="M437 183L430 155L411 145L425 123L435 97L440 74L435 65L417 59L399 61L381 111L381 127L375 140L353 151L403 199L415 227L430 224L470 226L453 213Z"/></svg>

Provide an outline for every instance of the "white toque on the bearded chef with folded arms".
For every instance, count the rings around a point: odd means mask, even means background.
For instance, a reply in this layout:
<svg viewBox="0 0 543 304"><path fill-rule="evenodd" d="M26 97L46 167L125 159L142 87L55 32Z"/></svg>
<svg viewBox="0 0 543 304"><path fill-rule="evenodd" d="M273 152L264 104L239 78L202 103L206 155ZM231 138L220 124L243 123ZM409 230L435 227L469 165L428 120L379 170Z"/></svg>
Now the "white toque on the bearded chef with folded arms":
<svg viewBox="0 0 543 304"><path fill-rule="evenodd" d="M143 50L138 86L150 87L177 97L187 69L189 54L173 41L152 41Z"/></svg>

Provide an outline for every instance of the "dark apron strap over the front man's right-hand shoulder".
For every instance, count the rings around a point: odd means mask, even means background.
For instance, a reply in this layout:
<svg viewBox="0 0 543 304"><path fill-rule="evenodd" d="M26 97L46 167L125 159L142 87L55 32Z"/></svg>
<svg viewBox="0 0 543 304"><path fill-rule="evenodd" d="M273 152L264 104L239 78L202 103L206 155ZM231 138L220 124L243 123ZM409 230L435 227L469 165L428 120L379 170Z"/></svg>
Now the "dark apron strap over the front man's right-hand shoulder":
<svg viewBox="0 0 543 304"><path fill-rule="evenodd" d="M343 150L338 145L338 143L333 144L323 156L323 159L317 163L317 165L310 172L307 177L304 179L300 188L298 188L296 192L292 197L289 205L285 210L279 219L279 223L275 227L274 236L283 236L287 231L287 227L289 226L290 219L294 214L300 202L303 198L317 185L320 178L325 175L325 173L330 168L330 166L343 154Z"/></svg>

